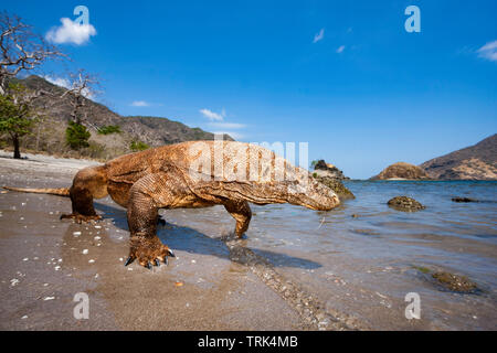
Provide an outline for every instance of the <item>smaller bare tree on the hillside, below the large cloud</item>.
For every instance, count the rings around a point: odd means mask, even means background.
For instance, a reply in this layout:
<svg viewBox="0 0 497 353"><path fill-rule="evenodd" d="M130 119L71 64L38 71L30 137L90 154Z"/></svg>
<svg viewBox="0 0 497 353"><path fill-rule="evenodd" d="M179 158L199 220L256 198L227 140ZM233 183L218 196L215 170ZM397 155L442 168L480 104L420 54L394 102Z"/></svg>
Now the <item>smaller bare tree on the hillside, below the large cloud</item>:
<svg viewBox="0 0 497 353"><path fill-rule="evenodd" d="M86 105L85 98L95 97L99 90L99 82L95 75L86 73L83 68L70 74L68 88L61 98L67 96L71 109L71 118L76 124L87 121L87 109L84 109Z"/></svg>

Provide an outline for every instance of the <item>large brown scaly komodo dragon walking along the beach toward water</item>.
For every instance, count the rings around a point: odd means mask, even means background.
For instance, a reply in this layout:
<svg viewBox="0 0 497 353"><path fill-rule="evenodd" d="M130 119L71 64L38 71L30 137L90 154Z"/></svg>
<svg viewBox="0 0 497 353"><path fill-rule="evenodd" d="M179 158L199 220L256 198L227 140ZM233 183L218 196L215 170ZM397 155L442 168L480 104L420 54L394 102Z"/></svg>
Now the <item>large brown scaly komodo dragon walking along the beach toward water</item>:
<svg viewBox="0 0 497 353"><path fill-rule="evenodd" d="M262 147L232 141L189 141L121 156L80 170L68 189L4 189L70 196L73 212L61 218L78 223L102 218L93 199L110 195L127 208L130 250L126 265L138 259L149 269L151 263L159 266L159 260L167 264L167 257L175 256L156 234L159 208L222 204L235 218L235 233L241 237L252 217L248 202L290 203L319 211L340 203L308 171Z"/></svg>

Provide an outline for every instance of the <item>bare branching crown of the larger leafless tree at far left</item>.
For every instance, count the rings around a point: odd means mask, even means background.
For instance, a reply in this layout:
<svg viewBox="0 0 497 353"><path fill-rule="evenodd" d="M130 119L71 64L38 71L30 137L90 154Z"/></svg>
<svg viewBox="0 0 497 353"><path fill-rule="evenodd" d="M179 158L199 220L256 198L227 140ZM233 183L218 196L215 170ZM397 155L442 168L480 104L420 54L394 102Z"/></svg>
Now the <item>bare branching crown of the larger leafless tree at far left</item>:
<svg viewBox="0 0 497 353"><path fill-rule="evenodd" d="M47 58L65 56L20 17L7 11L0 12L0 95L7 93L9 79L21 71L34 69Z"/></svg>

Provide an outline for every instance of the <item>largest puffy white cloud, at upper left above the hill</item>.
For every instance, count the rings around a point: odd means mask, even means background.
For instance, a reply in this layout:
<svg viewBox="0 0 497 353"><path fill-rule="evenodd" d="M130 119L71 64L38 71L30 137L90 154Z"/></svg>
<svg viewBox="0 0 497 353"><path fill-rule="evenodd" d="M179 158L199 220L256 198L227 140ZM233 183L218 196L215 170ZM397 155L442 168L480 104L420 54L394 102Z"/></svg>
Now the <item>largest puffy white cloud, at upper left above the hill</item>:
<svg viewBox="0 0 497 353"><path fill-rule="evenodd" d="M61 19L62 25L52 28L45 35L47 41L62 44L73 43L82 45L89 41L92 35L96 35L96 30L92 24L80 24L71 19Z"/></svg>

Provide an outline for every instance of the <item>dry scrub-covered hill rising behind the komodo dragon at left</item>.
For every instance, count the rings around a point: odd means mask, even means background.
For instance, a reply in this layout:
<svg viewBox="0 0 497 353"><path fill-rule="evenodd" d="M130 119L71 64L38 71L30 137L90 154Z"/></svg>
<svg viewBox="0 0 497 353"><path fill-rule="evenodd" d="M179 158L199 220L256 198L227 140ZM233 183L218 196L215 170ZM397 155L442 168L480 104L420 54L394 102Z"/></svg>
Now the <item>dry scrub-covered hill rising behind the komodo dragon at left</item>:
<svg viewBox="0 0 497 353"><path fill-rule="evenodd" d="M46 117L34 127L33 135L24 137L21 147L42 150L51 153L71 152L65 143L65 128L71 120L72 107L68 97L61 98L66 90L40 76L29 76L19 82L31 89L42 89L51 94L38 99L38 105L43 106ZM149 147L177 143L191 140L212 140L214 135L200 128L190 128L179 121L162 117L120 116L105 105L86 99L82 108L85 116L83 125L87 127L91 137L91 151L81 151L91 157L112 158L131 151L131 143L144 143ZM97 131L108 126L119 127L120 132L102 135ZM7 145L7 137L2 137ZM224 139L233 140L225 135ZM72 152L71 152L72 153ZM98 156L93 156L98 154Z"/></svg>

